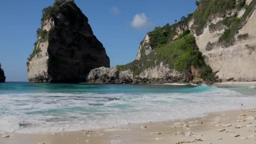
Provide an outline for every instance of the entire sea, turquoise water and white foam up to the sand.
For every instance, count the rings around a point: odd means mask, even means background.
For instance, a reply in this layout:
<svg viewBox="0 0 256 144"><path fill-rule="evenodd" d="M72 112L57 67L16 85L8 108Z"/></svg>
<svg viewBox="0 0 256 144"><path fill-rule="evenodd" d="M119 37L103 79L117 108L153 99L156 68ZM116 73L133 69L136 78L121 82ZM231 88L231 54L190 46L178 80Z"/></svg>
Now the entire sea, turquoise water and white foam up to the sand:
<svg viewBox="0 0 256 144"><path fill-rule="evenodd" d="M249 86L1 83L0 134L201 117L209 112L256 107L254 93Z"/></svg>

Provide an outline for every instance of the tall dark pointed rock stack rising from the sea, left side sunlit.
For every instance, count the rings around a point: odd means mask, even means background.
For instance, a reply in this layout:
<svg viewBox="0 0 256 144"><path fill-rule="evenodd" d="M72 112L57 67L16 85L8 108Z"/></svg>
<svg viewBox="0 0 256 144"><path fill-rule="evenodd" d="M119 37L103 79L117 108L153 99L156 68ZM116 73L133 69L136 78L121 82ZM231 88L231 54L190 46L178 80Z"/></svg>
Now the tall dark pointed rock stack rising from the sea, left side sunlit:
<svg viewBox="0 0 256 144"><path fill-rule="evenodd" d="M27 62L29 82L85 82L91 69L109 67L105 48L73 0L43 9L41 24Z"/></svg>

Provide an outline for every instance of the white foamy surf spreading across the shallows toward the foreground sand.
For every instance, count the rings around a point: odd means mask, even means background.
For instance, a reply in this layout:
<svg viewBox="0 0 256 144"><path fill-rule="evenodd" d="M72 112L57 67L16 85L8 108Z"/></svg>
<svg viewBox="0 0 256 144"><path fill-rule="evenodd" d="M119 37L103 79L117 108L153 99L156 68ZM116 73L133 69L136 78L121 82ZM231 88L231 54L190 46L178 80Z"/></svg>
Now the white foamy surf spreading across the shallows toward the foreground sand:
<svg viewBox="0 0 256 144"><path fill-rule="evenodd" d="M209 88L206 85L192 88ZM47 133L202 117L255 106L223 88L193 93L24 93L0 95L0 133Z"/></svg>

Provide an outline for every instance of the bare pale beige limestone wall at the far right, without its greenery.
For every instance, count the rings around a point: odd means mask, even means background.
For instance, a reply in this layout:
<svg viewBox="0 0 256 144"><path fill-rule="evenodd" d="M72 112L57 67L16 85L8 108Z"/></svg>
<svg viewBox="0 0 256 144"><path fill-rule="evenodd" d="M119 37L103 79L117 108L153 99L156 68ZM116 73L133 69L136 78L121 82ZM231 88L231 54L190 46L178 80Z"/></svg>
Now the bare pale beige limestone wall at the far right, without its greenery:
<svg viewBox="0 0 256 144"><path fill-rule="evenodd" d="M251 2L250 0L246 1ZM244 9L238 12L238 16L242 16ZM212 23L216 24L222 20L222 17L212 19ZM193 21L191 21L193 23ZM246 40L238 40L234 45L229 47L222 47L218 40L223 29L209 30L210 23L204 28L203 34L196 36L196 42L200 51L205 55L205 61L211 66L216 75L222 80L234 81L254 81L256 80L256 30L253 28L256 25L256 11L248 18L246 24L239 30L236 35L248 34ZM190 24L190 27L192 24ZM208 43L212 44L212 48L208 48Z"/></svg>

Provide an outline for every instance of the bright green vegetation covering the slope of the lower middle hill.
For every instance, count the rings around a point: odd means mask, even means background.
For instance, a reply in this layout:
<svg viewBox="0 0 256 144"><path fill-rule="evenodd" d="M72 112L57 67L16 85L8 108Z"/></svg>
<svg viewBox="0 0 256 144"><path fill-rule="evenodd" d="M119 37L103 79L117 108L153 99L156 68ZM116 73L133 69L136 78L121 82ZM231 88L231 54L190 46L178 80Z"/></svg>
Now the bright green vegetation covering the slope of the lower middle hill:
<svg viewBox="0 0 256 144"><path fill-rule="evenodd" d="M166 28L166 26L164 27ZM155 34L159 32L159 29L163 28L156 28L154 31L149 32L149 34ZM172 31L170 31L168 35L171 35L171 33ZM168 35L165 37L168 37ZM158 38L159 37L157 37L157 39ZM152 39L153 38L150 37L150 40ZM190 68L194 66L199 69L200 75L198 75L198 77L208 80L215 79L211 68L205 64L204 57L195 43L195 37L190 34L188 29L184 30L178 38L169 43L168 40L166 40L164 43L157 43L157 46L155 47L153 47L154 44L149 44L153 49L151 53L145 55L144 48L141 48L141 58L139 60L135 60L126 65L117 66L117 68L120 70L131 69L134 75L138 75L143 70L155 67L163 62L163 64L168 64L170 69L185 73L189 72Z"/></svg>

